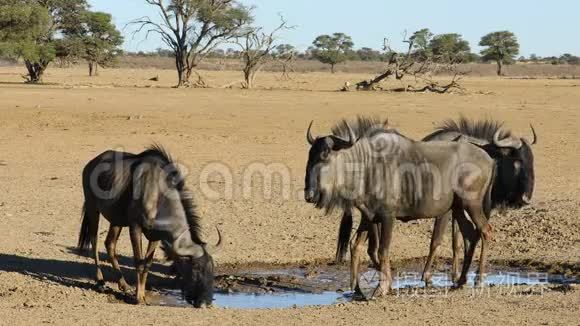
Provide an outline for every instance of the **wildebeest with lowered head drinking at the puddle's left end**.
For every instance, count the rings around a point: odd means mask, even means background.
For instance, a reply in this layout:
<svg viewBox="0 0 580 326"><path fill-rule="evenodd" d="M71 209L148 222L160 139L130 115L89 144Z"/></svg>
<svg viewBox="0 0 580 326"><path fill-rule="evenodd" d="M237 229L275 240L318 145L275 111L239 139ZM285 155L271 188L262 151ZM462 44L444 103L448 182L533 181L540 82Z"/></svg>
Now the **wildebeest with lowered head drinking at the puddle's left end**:
<svg viewBox="0 0 580 326"><path fill-rule="evenodd" d="M182 292L195 307L211 305L216 248L200 238L199 217L177 165L160 146L140 154L106 151L83 170L85 203L78 247L92 246L98 289L104 288L98 255L99 214L110 223L105 247L117 273L119 289L128 290L116 257L121 229L129 227L137 272L137 302L145 301L147 273L159 242L182 275ZM145 256L141 237L149 240ZM218 231L219 235L219 231ZM221 244L218 241L219 246Z"/></svg>

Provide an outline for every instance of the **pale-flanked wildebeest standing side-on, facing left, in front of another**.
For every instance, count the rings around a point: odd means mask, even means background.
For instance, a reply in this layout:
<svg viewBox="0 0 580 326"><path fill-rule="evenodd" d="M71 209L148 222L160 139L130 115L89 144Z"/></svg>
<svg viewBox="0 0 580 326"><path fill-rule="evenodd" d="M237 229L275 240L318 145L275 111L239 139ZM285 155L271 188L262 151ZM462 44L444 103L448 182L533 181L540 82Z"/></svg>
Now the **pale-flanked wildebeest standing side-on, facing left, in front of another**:
<svg viewBox="0 0 580 326"><path fill-rule="evenodd" d="M466 242L459 283L467 272L482 236L479 273L484 274L487 241L491 227L493 160L475 145L453 142L415 142L394 130L376 130L357 139L346 121L341 124L348 138L334 135L314 138L305 176L305 200L327 212L333 208L357 207L370 223L380 223L378 295L391 286L389 246L394 220L409 221L440 217L452 210ZM471 222L477 230L471 230ZM366 235L366 234L365 234ZM360 251L366 238L359 237L352 249L351 287L358 287Z"/></svg>

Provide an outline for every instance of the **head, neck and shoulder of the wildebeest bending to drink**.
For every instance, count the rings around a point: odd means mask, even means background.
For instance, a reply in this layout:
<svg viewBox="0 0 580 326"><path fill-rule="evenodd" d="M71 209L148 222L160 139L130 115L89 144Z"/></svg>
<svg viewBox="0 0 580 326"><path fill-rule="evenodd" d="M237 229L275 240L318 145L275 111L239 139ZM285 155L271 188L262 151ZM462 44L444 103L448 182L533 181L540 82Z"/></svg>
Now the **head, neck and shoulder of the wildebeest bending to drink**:
<svg viewBox="0 0 580 326"><path fill-rule="evenodd" d="M221 245L201 240L199 216L193 197L185 188L179 168L162 149L151 149L149 164L136 169L135 194L142 201L140 214L149 234L162 240L163 248L181 275L182 293L195 307L213 300L214 262L211 256Z"/></svg>

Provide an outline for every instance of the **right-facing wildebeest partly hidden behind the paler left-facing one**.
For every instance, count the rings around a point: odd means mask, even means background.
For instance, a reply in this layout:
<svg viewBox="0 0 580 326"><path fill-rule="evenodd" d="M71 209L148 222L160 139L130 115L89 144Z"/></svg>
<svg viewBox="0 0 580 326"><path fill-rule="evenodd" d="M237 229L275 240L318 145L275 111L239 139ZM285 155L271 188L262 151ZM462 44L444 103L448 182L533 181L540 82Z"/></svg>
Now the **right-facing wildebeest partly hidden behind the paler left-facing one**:
<svg viewBox="0 0 580 326"><path fill-rule="evenodd" d="M360 120L360 118L359 118ZM365 125L368 125L366 123ZM379 121L373 121L375 126L381 128ZM447 120L436 131L423 138L423 141L467 141L484 149L496 162L497 175L494 178L492 188L492 208L503 206L519 208L527 205L532 198L534 190L534 156L532 145L537 143L536 132L531 126L533 140L518 138L509 130L502 130L502 123L493 120L471 121L464 117L458 121ZM377 127L375 127L377 128ZM357 131L357 128L354 128ZM334 132L334 130L333 130ZM344 135L344 130L337 130ZM450 214L445 214L435 220L433 236L429 256L423 272L423 280L427 285L431 283L431 268L438 247L441 245L443 233L447 227ZM345 210L339 231L337 245L337 261L342 261L346 254L352 227L352 213ZM376 240L378 232L376 225L363 224L362 228L369 231L369 256L376 261L378 247ZM459 241L457 225L453 224L453 280L459 277ZM341 251L342 250L342 251Z"/></svg>

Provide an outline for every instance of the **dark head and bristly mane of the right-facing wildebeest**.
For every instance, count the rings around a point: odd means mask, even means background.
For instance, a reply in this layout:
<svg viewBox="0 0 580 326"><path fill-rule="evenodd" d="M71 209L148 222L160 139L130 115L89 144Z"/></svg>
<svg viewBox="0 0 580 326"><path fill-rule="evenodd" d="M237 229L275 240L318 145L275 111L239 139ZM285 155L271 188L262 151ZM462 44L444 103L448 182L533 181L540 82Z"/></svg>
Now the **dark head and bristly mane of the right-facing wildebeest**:
<svg viewBox="0 0 580 326"><path fill-rule="evenodd" d="M501 130L495 121L472 122L461 118L458 123L446 121L438 131L423 140L463 140L481 146L496 162L492 201L494 206L521 207L527 205L534 192L534 155L532 145L537 143L531 126L533 140L518 138Z"/></svg>

